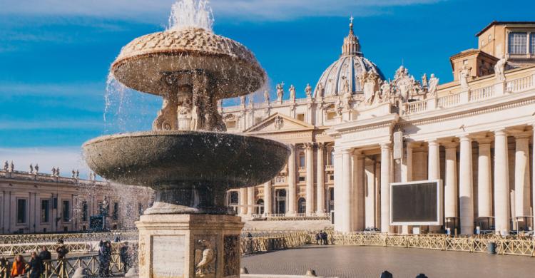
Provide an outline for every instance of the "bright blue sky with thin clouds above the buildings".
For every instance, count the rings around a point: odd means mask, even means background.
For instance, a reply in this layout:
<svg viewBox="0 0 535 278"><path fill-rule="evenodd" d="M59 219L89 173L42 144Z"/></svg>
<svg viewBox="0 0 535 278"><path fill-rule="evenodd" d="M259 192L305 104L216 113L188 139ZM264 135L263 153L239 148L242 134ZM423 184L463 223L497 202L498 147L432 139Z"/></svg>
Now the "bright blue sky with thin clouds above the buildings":
<svg viewBox="0 0 535 278"><path fill-rule="evenodd" d="M150 129L159 99L115 93L105 112L106 77L121 46L165 29L173 2L0 0L0 160L14 160L19 170L29 163L83 168L84 141ZM212 6L215 33L248 46L271 88L294 84L298 97L340 55L351 15L362 51L387 78L404 63L414 76L435 73L442 83L452 80L449 56L477 48L474 34L486 24L535 20L529 0L213 0Z"/></svg>

